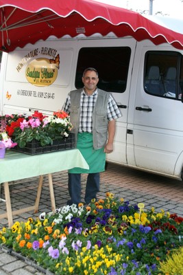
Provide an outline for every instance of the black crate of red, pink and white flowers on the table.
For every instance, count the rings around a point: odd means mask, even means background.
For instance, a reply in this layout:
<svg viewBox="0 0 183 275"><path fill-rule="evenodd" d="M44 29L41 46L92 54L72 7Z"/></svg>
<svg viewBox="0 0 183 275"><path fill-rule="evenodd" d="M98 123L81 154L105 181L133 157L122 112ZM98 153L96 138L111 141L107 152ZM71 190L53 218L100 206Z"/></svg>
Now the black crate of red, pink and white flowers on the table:
<svg viewBox="0 0 183 275"><path fill-rule="evenodd" d="M14 151L36 155L75 147L72 124L64 111L43 115L34 111L32 115L9 115L5 131L16 142Z"/></svg>

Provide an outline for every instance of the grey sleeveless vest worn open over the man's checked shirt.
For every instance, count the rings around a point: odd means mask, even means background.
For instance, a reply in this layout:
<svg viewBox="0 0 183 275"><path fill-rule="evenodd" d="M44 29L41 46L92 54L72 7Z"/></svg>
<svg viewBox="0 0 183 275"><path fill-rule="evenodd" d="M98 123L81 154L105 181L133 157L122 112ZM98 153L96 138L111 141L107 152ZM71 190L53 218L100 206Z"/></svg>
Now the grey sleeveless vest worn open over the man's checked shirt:
<svg viewBox="0 0 183 275"><path fill-rule="evenodd" d="M73 124L73 132L78 133L80 126L80 98L82 89L70 92L71 96L71 112L70 119ZM106 91L98 89L97 101L93 109L93 148L95 150L106 145L108 139L108 118L107 107L110 94Z"/></svg>

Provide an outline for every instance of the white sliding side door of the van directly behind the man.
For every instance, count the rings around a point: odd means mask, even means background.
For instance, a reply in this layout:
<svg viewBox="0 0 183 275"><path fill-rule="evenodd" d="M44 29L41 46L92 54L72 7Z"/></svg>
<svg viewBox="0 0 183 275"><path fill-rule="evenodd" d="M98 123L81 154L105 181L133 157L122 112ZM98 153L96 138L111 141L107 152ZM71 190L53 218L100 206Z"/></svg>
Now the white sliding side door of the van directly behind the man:
<svg viewBox="0 0 183 275"><path fill-rule="evenodd" d="M95 67L99 72L98 87L114 96L122 118L117 120L114 152L108 160L126 164L126 129L130 93L130 79L134 61L134 39L91 39L79 41L75 87L83 87L82 72Z"/></svg>

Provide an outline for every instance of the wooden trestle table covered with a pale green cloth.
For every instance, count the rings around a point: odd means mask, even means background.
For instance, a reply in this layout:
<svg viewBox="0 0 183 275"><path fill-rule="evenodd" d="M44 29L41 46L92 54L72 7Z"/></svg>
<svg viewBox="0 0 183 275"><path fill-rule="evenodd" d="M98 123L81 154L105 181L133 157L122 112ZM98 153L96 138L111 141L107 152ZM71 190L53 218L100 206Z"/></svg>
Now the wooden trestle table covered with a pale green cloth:
<svg viewBox="0 0 183 275"><path fill-rule="evenodd" d="M7 212L0 214L0 219L8 217L8 225L10 227L13 224L14 214L21 214L31 210L34 210L35 213L38 212L43 181L42 175L48 175L51 210L56 210L51 173L69 170L74 167L88 169L88 164L78 149L40 155L26 155L7 150L5 158L0 159L0 184L4 186ZM39 181L34 206L12 211L9 182L36 176L39 176Z"/></svg>

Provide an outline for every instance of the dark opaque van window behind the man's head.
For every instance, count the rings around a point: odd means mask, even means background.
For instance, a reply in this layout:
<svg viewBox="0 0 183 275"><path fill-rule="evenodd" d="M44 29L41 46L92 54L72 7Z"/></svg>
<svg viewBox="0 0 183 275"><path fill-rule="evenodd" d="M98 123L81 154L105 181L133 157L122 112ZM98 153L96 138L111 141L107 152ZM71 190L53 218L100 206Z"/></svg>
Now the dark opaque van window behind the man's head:
<svg viewBox="0 0 183 275"><path fill-rule="evenodd" d="M77 61L75 87L83 87L82 74L87 67L94 67L99 73L97 87L105 91L123 93L127 85L130 63L130 47L84 47Z"/></svg>

